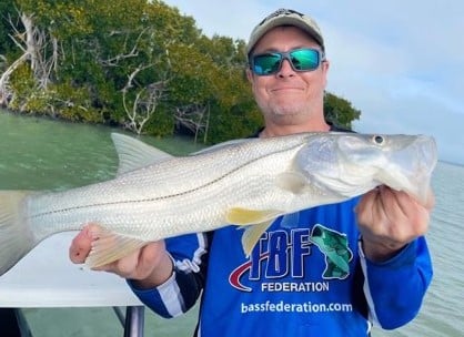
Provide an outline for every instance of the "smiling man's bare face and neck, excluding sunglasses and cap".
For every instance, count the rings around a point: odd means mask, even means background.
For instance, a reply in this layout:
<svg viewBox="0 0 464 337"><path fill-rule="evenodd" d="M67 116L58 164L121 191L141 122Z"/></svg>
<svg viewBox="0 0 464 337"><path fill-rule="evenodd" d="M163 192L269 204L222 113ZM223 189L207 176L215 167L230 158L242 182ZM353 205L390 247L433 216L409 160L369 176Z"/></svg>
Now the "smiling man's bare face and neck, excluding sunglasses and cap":
<svg viewBox="0 0 464 337"><path fill-rule="evenodd" d="M253 54L286 52L320 45L295 27L276 27L256 43ZM313 71L294 71L288 60L271 75L256 75L250 69L248 78L266 124L301 125L323 121L323 96L329 62Z"/></svg>

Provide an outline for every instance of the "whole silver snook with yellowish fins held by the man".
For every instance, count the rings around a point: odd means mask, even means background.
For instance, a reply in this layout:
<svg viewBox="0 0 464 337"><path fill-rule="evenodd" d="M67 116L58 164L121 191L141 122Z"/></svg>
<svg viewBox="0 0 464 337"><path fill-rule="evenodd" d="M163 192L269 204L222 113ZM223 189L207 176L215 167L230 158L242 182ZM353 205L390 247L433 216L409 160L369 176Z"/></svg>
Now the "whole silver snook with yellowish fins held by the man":
<svg viewBox="0 0 464 337"><path fill-rule="evenodd" d="M423 201L437 161L425 135L302 133L223 143L172 157L112 134L113 180L64 192L0 191L0 275L46 237L100 224L87 264L147 243L228 224L245 226L248 255L278 216L385 184ZM252 226L251 226L252 225Z"/></svg>

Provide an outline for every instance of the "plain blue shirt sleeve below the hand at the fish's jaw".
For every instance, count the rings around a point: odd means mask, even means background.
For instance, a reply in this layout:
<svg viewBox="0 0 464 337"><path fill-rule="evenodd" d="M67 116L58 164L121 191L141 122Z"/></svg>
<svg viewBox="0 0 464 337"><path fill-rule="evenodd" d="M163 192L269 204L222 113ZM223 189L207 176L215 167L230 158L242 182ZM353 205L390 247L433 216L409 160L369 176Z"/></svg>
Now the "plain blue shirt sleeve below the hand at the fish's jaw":
<svg viewBox="0 0 464 337"><path fill-rule="evenodd" d="M433 275L425 238L416 238L384 263L365 258L360 243L360 258L370 320L383 329L395 329L411 321L421 308Z"/></svg>

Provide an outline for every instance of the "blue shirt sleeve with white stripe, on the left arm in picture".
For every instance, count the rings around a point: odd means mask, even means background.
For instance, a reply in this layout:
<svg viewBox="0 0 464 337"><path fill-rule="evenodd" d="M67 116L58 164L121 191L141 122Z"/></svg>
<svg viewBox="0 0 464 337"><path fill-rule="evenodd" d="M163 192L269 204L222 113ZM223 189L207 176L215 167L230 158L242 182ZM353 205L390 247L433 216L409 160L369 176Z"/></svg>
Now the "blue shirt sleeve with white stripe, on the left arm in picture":
<svg viewBox="0 0 464 337"><path fill-rule="evenodd" d="M139 289L128 279L135 296L165 318L180 316L193 307L204 286L211 235L200 233L168 238L165 243L174 263L173 274L165 283L150 289Z"/></svg>

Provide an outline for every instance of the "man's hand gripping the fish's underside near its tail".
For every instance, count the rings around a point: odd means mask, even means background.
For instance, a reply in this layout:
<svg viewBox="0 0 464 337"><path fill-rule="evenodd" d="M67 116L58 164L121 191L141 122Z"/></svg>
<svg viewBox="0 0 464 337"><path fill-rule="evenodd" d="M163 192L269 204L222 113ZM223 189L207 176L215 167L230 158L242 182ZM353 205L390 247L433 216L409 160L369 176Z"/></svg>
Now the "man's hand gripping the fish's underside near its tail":
<svg viewBox="0 0 464 337"><path fill-rule="evenodd" d="M69 257L74 264L85 262L92 248L92 241L95 239L92 235L94 226L98 225L87 225L72 241L69 248ZM130 278L140 288L152 288L163 284L171 277L173 262L165 249L164 241L159 241L150 243L121 259L94 269Z"/></svg>

